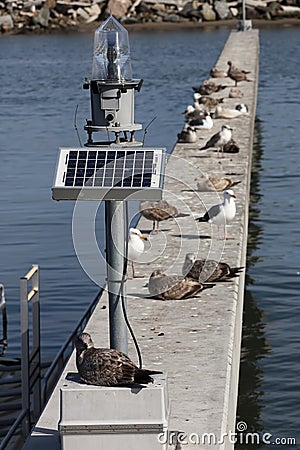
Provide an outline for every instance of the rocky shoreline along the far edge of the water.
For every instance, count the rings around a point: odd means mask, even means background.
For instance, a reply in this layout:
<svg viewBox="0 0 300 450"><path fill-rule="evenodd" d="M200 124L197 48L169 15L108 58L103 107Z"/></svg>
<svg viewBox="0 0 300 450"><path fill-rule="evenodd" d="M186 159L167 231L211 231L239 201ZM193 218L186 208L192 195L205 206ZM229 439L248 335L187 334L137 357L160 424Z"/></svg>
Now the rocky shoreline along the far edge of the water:
<svg viewBox="0 0 300 450"><path fill-rule="evenodd" d="M136 28L218 25L242 18L240 0L0 0L0 32L94 29L108 17L110 10L121 23ZM300 0L246 0L246 17L257 23L282 20L297 23Z"/></svg>

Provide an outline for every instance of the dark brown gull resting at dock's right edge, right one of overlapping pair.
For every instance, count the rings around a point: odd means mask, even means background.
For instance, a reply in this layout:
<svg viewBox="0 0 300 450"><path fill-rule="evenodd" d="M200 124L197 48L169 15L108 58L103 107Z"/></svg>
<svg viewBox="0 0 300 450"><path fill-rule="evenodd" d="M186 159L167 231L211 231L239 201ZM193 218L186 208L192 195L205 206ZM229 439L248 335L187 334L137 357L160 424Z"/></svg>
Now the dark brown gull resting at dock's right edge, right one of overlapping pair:
<svg viewBox="0 0 300 450"><path fill-rule="evenodd" d="M196 259L193 253L187 253L182 266L182 275L200 283L228 281L237 277L243 267L230 267L227 263L214 259Z"/></svg>

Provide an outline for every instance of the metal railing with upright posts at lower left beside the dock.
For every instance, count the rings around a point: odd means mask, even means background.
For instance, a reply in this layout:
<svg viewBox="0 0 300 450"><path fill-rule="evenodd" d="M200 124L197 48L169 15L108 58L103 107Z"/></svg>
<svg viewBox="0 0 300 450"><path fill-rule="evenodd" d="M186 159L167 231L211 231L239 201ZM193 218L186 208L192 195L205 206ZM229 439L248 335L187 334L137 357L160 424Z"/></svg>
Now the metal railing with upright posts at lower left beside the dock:
<svg viewBox="0 0 300 450"><path fill-rule="evenodd" d="M39 267L37 265L33 265L30 271L25 275L25 277L22 277L20 279L22 409L11 425L8 433L2 439L0 443L0 450L4 450L7 448L12 438L15 436L16 431L21 426L23 439L25 439L30 433L32 425L37 421L43 406L46 404L48 398L50 397L50 394L53 391L61 375L61 372L70 357L73 348L72 341L74 336L85 328L103 293L103 289L98 292L83 317L78 321L72 334L65 341L55 359L53 360L47 371L44 373L43 377L41 377L42 364L40 360L39 291ZM30 302L32 302L31 346L29 345ZM32 408L31 396L33 400Z"/></svg>

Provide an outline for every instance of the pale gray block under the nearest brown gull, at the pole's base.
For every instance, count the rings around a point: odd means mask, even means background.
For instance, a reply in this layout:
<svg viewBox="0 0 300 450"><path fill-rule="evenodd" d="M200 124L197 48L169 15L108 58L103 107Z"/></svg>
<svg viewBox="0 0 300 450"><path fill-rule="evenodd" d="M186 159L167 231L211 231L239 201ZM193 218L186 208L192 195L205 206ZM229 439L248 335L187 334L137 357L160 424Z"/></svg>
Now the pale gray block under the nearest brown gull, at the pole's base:
<svg viewBox="0 0 300 450"><path fill-rule="evenodd" d="M167 450L158 436L168 431L165 375L134 387L92 386L68 374L60 390L62 450Z"/></svg>

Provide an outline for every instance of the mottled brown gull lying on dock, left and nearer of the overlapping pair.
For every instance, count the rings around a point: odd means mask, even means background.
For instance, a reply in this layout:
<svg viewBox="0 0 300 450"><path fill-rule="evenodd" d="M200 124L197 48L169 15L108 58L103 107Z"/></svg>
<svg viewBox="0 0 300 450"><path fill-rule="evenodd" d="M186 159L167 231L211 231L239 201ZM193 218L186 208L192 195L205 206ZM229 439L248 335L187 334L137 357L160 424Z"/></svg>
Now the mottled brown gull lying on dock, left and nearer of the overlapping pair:
<svg viewBox="0 0 300 450"><path fill-rule="evenodd" d="M152 272L148 283L151 297L160 300L183 300L195 297L199 292L213 286L214 284L202 284L180 275L166 275L160 269Z"/></svg>

